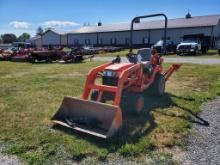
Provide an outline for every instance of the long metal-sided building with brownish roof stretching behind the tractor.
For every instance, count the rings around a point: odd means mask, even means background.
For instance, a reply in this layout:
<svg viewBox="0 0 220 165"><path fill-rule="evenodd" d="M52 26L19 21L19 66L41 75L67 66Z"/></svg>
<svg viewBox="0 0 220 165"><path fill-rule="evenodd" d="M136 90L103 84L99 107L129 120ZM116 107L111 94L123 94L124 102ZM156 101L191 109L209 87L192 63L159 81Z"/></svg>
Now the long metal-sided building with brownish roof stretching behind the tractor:
<svg viewBox="0 0 220 165"><path fill-rule="evenodd" d="M136 47L155 44L163 36L163 20L139 22L134 26L133 42ZM68 33L48 30L41 37L43 46L123 46L129 45L130 23L85 26ZM211 46L220 38L220 15L193 16L188 13L184 18L168 20L167 38L175 44L182 41L184 35L204 35Z"/></svg>

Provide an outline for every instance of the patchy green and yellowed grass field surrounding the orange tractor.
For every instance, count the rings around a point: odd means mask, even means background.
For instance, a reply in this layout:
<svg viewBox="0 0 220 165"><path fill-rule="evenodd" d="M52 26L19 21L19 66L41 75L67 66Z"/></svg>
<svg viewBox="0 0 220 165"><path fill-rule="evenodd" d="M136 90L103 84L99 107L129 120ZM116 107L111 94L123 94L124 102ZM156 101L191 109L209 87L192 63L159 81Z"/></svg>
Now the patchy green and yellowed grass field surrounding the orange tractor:
<svg viewBox="0 0 220 165"><path fill-rule="evenodd" d="M112 139L54 126L50 118L63 97L79 97L88 70L99 64L0 62L0 142L6 145L4 152L28 164L69 164L86 157L103 161L110 154L140 162L146 155L155 162L163 157L163 162L175 164L173 155L164 149L184 149L184 138L198 120L200 105L220 95L220 66L184 64L168 81L165 96L146 95L143 115L126 116L122 131ZM155 151L157 155L152 154Z"/></svg>

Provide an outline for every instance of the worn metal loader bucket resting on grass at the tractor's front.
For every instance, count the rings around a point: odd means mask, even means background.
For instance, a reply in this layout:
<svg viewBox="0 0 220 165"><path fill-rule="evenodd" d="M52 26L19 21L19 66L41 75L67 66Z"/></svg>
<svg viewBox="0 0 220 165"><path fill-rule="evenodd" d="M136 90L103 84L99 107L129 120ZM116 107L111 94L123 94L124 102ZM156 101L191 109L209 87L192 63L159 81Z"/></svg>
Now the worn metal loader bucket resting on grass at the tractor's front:
<svg viewBox="0 0 220 165"><path fill-rule="evenodd" d="M80 132L108 138L120 129L122 113L117 106L65 97L52 121Z"/></svg>

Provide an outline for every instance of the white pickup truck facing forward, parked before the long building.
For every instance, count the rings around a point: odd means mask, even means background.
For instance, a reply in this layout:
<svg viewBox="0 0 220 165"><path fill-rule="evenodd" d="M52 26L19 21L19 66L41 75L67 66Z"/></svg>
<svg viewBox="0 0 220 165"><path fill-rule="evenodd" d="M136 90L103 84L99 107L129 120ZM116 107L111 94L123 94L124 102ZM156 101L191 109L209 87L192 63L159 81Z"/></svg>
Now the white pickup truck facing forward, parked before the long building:
<svg viewBox="0 0 220 165"><path fill-rule="evenodd" d="M196 55L199 51L202 51L201 41L199 39L187 39L177 45L177 55L188 53Z"/></svg>

